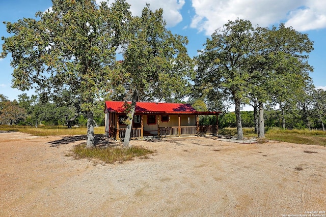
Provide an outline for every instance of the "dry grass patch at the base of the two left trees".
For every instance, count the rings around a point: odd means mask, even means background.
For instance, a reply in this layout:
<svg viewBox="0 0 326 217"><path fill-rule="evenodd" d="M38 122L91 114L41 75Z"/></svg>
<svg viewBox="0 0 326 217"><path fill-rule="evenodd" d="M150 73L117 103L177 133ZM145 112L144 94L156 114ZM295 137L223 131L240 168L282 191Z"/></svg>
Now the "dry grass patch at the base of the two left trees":
<svg viewBox="0 0 326 217"><path fill-rule="evenodd" d="M125 161L131 161L135 157L149 159L147 154L153 153L153 151L142 146L131 146L128 148L122 148L120 146L86 148L86 144L74 146L72 152L75 159L93 159L106 164L113 164L115 162L123 163Z"/></svg>

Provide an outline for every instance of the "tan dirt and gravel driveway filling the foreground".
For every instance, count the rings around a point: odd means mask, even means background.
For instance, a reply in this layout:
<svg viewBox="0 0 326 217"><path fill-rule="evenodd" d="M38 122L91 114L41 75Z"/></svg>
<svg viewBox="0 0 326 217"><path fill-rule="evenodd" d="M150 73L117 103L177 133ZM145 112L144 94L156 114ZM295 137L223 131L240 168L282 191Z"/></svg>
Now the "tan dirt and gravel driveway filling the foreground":
<svg viewBox="0 0 326 217"><path fill-rule="evenodd" d="M0 133L0 216L326 216L322 146L192 137L132 141L155 153L123 164L65 156L84 139Z"/></svg>

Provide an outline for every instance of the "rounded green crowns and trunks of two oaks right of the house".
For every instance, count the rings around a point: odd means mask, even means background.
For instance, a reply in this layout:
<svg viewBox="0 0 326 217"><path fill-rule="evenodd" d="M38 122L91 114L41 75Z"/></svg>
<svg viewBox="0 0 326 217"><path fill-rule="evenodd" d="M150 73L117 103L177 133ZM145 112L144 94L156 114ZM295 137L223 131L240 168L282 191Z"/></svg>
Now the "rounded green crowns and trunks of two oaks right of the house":
<svg viewBox="0 0 326 217"><path fill-rule="evenodd" d="M313 42L307 34L285 27L283 23L269 29L254 28L248 20L229 21L215 30L205 46L196 57L195 92L210 102L233 101L238 137L241 137L244 121L244 125L253 126L249 113L241 118L241 104L253 102L257 108L259 105L261 118L267 102L280 105L285 114L285 110L295 107L304 96L305 88L311 85L309 72L313 69L307 59ZM295 116L291 118L294 120ZM289 127L302 128L307 120L306 115L304 122ZM275 121L269 121L276 125ZM231 126L230 122L222 120L225 126ZM323 121L320 122L323 126ZM260 123L264 128L263 120Z"/></svg>

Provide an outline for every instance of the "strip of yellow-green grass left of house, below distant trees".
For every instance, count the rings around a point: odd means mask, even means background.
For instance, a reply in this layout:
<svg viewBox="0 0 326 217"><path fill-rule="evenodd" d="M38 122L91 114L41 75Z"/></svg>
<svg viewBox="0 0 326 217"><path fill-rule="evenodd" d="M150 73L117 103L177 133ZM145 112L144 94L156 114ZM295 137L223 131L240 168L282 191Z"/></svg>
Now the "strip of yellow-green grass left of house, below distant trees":
<svg viewBox="0 0 326 217"><path fill-rule="evenodd" d="M0 125L0 131L16 131L33 136L70 136L70 135L86 135L87 128L71 128L68 129L64 126L42 126L42 127L30 127L30 126L8 126ZM94 128L94 134L104 134L104 127Z"/></svg>

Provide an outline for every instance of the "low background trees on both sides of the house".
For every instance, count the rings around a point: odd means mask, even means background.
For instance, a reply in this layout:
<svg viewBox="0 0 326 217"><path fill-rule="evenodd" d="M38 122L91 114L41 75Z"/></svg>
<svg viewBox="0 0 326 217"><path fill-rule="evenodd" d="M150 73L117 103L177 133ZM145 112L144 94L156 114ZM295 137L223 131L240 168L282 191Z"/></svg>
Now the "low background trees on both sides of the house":
<svg viewBox="0 0 326 217"><path fill-rule="evenodd" d="M306 110L302 109L298 102L297 106L286 110L267 108L264 112L265 130L278 127L282 129L319 129L324 131L326 111L323 107L326 101L326 91L313 90L314 96L310 96ZM69 95L67 95L68 97ZM70 99L72 100L72 99ZM78 100L77 100L78 102ZM192 104L198 111L208 111L205 102L196 100L183 103ZM87 114L78 112L78 106L69 101L41 102L36 95L28 96L21 94L17 100L10 101L0 94L0 125L21 126L66 126L85 127L87 125ZM244 128L255 128L254 111L241 111L241 123ZM103 104L98 101L97 110L94 112L96 126L104 126ZM235 128L235 112L224 111L219 115L219 128ZM200 125L215 125L216 115L200 115Z"/></svg>

